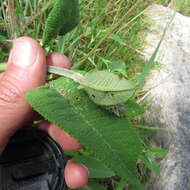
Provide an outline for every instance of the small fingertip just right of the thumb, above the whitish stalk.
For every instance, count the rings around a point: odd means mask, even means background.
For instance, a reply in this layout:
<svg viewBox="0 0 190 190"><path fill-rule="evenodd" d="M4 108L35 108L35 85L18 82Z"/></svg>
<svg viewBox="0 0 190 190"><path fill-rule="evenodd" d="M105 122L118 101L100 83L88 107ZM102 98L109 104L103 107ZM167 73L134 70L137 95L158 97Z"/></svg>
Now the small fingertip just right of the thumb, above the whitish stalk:
<svg viewBox="0 0 190 190"><path fill-rule="evenodd" d="M57 67L63 67L65 69L71 68L69 59L65 55L61 53L56 53L56 52L51 53L47 57L47 64L57 66Z"/></svg>

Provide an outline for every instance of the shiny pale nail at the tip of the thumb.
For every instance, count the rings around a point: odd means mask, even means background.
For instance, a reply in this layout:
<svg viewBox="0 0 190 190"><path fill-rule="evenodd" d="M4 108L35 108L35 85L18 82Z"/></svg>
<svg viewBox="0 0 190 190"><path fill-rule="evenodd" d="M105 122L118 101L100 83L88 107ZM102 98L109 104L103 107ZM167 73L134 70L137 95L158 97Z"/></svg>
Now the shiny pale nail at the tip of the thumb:
<svg viewBox="0 0 190 190"><path fill-rule="evenodd" d="M8 62L23 68L33 65L37 59L38 51L36 47L24 38L13 41Z"/></svg>

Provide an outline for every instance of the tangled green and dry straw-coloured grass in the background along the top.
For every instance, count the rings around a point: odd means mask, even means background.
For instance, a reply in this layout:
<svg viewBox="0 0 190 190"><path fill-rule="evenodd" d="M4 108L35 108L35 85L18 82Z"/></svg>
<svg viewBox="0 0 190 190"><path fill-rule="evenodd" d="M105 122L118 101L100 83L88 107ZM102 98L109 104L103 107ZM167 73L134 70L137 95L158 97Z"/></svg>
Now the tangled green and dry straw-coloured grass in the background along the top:
<svg viewBox="0 0 190 190"><path fill-rule="evenodd" d="M9 1L14 6L8 8L8 0L0 0L0 62L6 61L9 40L28 35L41 41L45 20L55 0ZM140 72L144 66L141 50L149 26L149 21L143 14L144 9L152 3L161 3L188 15L190 1L145 0L99 44L136 2L137 0L80 0L80 26L66 36L58 37L48 51L66 54L73 64L85 62L85 70L108 68L113 61L120 61L125 63L128 76Z"/></svg>

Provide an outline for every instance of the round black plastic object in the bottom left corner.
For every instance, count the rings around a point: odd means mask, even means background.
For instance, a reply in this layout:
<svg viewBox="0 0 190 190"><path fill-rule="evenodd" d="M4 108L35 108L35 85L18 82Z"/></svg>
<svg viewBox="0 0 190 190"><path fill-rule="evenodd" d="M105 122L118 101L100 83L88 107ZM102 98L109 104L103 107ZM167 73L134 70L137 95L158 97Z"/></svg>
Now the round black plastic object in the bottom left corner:
<svg viewBox="0 0 190 190"><path fill-rule="evenodd" d="M0 190L65 190L62 148L45 132L18 131L0 156Z"/></svg>

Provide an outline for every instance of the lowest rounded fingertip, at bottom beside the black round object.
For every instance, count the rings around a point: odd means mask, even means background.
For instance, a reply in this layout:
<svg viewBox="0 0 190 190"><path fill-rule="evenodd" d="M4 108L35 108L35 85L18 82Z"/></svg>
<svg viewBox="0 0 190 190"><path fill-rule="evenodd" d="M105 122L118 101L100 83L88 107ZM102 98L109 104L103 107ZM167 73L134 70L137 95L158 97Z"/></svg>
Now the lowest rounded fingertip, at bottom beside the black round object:
<svg viewBox="0 0 190 190"><path fill-rule="evenodd" d="M75 162L68 161L65 167L65 182L71 189L78 189L88 182L89 172L86 167Z"/></svg>

